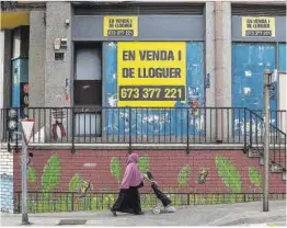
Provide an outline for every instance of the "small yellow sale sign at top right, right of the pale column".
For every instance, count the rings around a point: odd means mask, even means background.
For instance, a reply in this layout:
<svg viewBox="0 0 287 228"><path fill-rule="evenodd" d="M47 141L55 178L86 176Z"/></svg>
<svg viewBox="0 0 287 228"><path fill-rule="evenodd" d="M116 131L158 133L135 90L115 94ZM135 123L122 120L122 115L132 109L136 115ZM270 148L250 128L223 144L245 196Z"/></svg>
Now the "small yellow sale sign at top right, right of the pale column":
<svg viewBox="0 0 287 228"><path fill-rule="evenodd" d="M275 18L243 16L242 36L275 37Z"/></svg>

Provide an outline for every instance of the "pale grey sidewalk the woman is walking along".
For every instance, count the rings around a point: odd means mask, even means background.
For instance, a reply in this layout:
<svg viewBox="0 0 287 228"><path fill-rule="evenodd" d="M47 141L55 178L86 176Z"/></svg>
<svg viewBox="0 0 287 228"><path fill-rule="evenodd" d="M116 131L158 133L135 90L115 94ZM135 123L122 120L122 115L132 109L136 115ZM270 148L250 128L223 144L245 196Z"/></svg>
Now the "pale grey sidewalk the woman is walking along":
<svg viewBox="0 0 287 228"><path fill-rule="evenodd" d="M105 210L31 214L28 218L34 226L56 226L69 220L85 226L252 226L256 224L257 226L284 226L286 224L285 201L269 202L269 210L263 213L262 202L252 202L188 206L177 208L177 212L173 214L160 215L145 210L145 215L140 216L119 214L113 217ZM2 226L18 226L20 221L21 215L1 213Z"/></svg>

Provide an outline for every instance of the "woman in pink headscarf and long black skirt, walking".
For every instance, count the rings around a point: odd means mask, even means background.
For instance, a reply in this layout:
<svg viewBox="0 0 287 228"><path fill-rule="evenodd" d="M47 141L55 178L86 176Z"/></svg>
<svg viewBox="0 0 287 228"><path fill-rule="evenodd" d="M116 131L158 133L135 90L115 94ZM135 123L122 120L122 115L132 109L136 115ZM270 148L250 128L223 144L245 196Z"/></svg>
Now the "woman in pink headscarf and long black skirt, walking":
<svg viewBox="0 0 287 228"><path fill-rule="evenodd" d="M131 153L127 159L126 171L120 184L120 192L111 212L116 216L116 212L141 215L140 198L138 189L144 186L145 175L139 172L137 153Z"/></svg>

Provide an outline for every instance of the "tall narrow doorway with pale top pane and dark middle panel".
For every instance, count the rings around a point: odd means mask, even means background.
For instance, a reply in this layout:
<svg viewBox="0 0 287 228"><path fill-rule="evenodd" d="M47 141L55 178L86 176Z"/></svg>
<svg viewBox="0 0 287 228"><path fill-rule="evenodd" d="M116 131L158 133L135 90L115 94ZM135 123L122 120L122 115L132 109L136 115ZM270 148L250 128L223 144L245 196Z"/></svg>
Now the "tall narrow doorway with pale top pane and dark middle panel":
<svg viewBox="0 0 287 228"><path fill-rule="evenodd" d="M102 132L102 44L76 44L74 135L100 136ZM94 106L93 109L81 109Z"/></svg>

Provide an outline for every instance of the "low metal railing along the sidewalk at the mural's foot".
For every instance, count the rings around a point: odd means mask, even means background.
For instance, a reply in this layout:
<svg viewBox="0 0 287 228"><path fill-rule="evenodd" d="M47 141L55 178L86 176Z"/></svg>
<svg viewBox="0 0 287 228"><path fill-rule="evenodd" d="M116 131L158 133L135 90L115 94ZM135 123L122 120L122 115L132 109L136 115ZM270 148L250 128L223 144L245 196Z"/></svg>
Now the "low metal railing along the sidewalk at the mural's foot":
<svg viewBox="0 0 287 228"><path fill-rule="evenodd" d="M173 206L214 205L262 201L262 193L167 193ZM116 201L115 192L89 192L84 196L77 192L28 192L28 213L55 213L73 210L110 209ZM269 193L269 200L286 200L286 193ZM140 194L141 207L157 205L152 193ZM14 192L14 212L21 213L21 192Z"/></svg>

